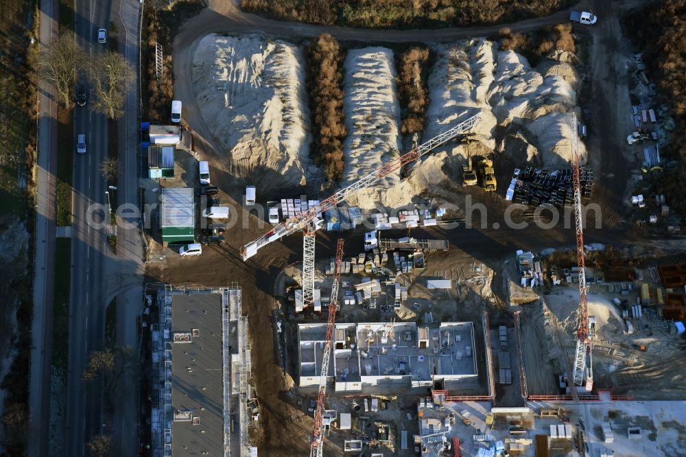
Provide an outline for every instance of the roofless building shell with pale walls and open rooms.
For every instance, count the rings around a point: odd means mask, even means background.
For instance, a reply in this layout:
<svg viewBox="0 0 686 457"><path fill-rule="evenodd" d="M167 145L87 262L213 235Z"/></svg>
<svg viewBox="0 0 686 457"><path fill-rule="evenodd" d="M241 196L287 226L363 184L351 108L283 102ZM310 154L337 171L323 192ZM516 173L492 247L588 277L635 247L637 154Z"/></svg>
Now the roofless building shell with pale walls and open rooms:
<svg viewBox="0 0 686 457"><path fill-rule="evenodd" d="M317 386L327 325L298 325L300 386ZM477 378L472 323L339 323L333 335L329 380L337 392L363 387L431 386Z"/></svg>

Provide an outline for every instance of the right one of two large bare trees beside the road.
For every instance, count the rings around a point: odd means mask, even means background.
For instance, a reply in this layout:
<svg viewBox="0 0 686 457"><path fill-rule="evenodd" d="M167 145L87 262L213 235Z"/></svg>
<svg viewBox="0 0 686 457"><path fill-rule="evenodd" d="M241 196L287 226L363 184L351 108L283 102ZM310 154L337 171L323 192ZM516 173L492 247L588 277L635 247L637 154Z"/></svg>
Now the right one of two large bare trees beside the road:
<svg viewBox="0 0 686 457"><path fill-rule="evenodd" d="M93 110L110 119L119 119L124 113L126 91L135 77L134 69L118 52L107 51L94 58L88 69L88 80L93 86Z"/></svg>

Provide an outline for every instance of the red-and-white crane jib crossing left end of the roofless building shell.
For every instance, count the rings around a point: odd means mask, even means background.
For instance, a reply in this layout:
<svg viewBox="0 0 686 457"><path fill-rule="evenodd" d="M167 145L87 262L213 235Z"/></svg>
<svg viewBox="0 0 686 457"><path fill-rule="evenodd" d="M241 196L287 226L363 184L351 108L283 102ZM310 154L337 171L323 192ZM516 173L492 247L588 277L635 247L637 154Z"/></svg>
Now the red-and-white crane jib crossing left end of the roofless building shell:
<svg viewBox="0 0 686 457"><path fill-rule="evenodd" d="M310 457L322 457L324 453L324 397L327 395L327 376L329 375L329 360L331 359L331 346L333 346L333 329L336 321L336 307L338 306L338 288L341 280L341 264L343 263L344 239L339 238L336 244L336 258L333 267L333 284L331 285L331 299L329 301L329 320L327 322L327 339L324 340L324 353L322 355L322 371L319 375L319 393L317 395L317 409L314 411L314 432Z"/></svg>

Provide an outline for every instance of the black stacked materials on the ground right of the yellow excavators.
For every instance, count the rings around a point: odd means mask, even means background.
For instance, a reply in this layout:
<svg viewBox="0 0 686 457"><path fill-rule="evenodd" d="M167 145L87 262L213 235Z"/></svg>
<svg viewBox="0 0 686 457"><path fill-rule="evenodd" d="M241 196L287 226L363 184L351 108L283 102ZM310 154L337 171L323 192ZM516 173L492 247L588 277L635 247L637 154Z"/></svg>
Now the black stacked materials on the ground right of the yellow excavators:
<svg viewBox="0 0 686 457"><path fill-rule="evenodd" d="M579 167L581 196L591 198L593 169ZM547 169L526 167L523 171L514 169L514 176L508 188L506 199L530 207L552 204L556 208L571 207L574 202L574 185L571 168Z"/></svg>

